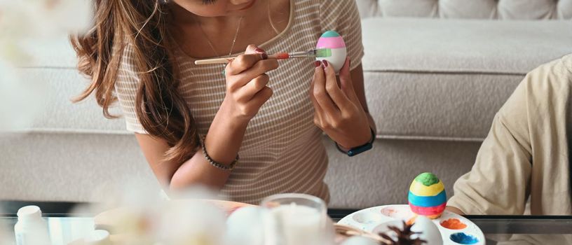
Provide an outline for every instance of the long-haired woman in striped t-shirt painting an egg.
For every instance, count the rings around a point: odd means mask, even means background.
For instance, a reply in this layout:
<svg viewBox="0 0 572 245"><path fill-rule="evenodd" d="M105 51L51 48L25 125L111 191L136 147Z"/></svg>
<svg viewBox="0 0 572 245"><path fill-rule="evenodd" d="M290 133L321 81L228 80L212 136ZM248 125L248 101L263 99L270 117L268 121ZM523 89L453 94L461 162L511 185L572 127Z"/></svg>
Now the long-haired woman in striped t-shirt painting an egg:
<svg viewBox="0 0 572 245"><path fill-rule="evenodd" d="M327 62L268 59L309 50L327 30L348 47L339 82ZM275 193L328 200L322 132L342 151L375 132L360 31L354 0L96 0L95 27L72 38L92 78L79 99L95 93L107 117L118 99L171 189L202 184L254 204ZM229 56L238 58L193 64Z"/></svg>

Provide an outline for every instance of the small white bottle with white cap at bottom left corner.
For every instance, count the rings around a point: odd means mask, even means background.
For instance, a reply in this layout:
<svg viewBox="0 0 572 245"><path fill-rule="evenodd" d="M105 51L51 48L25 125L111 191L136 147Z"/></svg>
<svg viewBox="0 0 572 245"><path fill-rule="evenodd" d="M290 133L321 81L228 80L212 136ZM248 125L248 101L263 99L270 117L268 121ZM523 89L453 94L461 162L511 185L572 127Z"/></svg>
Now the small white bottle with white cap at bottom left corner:
<svg viewBox="0 0 572 245"><path fill-rule="evenodd" d="M41 217L41 210L37 206L26 206L18 210L14 233L17 245L51 244L48 223Z"/></svg>

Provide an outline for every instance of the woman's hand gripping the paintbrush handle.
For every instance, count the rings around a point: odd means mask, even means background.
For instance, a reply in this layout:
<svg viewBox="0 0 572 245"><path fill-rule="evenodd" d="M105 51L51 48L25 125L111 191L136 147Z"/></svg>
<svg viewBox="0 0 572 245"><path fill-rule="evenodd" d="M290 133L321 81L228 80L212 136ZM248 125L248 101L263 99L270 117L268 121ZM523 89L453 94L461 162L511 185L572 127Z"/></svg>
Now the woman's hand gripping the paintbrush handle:
<svg viewBox="0 0 572 245"><path fill-rule="evenodd" d="M256 45L248 45L244 55L239 55L226 65L226 97L221 108L238 122L247 123L270 99L272 90L266 72L278 68L276 59Z"/></svg>

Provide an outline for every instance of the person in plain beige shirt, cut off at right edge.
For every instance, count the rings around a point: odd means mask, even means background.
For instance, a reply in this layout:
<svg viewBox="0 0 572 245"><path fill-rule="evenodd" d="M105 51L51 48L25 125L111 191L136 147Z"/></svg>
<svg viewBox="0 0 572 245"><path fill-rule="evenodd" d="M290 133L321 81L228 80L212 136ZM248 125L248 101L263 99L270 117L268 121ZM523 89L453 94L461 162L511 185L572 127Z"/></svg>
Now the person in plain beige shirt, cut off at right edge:
<svg viewBox="0 0 572 245"><path fill-rule="evenodd" d="M572 215L572 55L531 71L448 202L458 214Z"/></svg>

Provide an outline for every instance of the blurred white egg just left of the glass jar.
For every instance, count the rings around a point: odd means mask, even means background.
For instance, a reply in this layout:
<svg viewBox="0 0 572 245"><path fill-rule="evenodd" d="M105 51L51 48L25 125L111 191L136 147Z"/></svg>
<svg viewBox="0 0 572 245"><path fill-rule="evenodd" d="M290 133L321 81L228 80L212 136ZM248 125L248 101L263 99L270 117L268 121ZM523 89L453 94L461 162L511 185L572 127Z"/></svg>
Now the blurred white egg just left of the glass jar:
<svg viewBox="0 0 572 245"><path fill-rule="evenodd" d="M226 244L263 245L266 209L242 207L226 220Z"/></svg>

